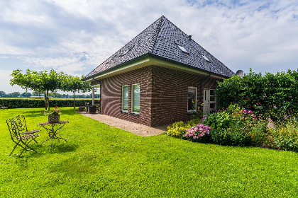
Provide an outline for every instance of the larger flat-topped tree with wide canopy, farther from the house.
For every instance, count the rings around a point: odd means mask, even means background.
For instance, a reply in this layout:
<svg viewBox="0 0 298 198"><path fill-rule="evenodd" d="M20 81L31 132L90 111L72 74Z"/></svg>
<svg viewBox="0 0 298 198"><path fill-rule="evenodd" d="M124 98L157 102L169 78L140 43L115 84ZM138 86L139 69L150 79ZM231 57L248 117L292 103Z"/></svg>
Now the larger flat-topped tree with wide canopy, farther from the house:
<svg viewBox="0 0 298 198"><path fill-rule="evenodd" d="M45 109L50 110L49 91L57 91L62 89L64 79L63 72L57 73L54 69L48 71L30 71L26 70L26 74L21 73L21 69L13 70L11 76L11 86L18 85L23 89L31 89L33 91L43 91L45 93Z"/></svg>

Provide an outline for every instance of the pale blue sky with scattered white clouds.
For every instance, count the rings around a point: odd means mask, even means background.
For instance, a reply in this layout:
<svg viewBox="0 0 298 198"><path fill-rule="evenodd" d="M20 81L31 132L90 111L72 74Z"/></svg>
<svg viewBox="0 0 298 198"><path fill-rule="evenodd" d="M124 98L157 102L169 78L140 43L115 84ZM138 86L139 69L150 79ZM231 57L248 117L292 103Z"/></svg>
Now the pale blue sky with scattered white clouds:
<svg viewBox="0 0 298 198"><path fill-rule="evenodd" d="M0 91L25 91L14 69L86 76L162 15L234 72L298 68L297 0L0 0Z"/></svg>

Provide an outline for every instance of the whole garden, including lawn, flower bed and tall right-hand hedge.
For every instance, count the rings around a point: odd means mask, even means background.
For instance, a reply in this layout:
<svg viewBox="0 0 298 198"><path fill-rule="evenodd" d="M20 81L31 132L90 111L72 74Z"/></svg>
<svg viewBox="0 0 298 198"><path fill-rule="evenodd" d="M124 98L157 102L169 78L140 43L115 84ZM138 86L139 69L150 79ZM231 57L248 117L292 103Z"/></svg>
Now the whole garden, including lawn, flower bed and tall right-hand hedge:
<svg viewBox="0 0 298 198"><path fill-rule="evenodd" d="M37 125L48 121L45 107L1 110L0 197L298 197L295 75L229 78L217 89L219 109L208 117L198 111L158 136L60 107L67 142L52 146ZM6 120L16 115L41 129L38 144L30 144L37 153L9 156L15 144Z"/></svg>

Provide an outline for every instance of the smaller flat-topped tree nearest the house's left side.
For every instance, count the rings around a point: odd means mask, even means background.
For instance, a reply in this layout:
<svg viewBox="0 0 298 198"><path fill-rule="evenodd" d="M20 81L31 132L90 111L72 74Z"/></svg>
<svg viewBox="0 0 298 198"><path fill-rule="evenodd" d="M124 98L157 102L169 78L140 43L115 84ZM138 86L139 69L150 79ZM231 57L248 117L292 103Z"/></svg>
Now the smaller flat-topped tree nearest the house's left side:
<svg viewBox="0 0 298 198"><path fill-rule="evenodd" d="M84 78L84 76L82 76ZM84 83L81 81L82 78L77 76L69 76L65 75L65 79L63 81L62 91L72 91L74 98L74 109L75 109L75 92L85 93L87 91L91 91L92 88L89 83Z"/></svg>

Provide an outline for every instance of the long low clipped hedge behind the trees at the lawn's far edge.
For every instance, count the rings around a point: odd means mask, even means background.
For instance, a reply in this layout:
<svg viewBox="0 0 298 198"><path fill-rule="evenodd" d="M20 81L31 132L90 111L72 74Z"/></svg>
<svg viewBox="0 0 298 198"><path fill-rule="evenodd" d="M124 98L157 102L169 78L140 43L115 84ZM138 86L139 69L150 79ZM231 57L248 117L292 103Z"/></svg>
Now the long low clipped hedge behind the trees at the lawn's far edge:
<svg viewBox="0 0 298 198"><path fill-rule="evenodd" d="M75 100L77 107L84 106L85 103L92 103L92 99L79 99ZM9 108L35 108L45 107L44 99L0 99L0 105ZM73 107L74 101L71 99L50 99L50 107Z"/></svg>

